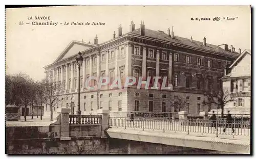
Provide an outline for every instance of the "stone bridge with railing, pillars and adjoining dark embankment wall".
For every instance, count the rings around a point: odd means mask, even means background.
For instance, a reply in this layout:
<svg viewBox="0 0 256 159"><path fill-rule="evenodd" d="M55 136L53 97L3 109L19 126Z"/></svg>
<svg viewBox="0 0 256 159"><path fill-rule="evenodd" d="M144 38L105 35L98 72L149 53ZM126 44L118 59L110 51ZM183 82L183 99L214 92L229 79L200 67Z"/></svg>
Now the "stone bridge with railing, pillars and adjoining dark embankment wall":
<svg viewBox="0 0 256 159"><path fill-rule="evenodd" d="M109 153L108 139L250 154L248 121L189 120L186 112L179 112L178 120L135 118L133 121L109 117L109 110L104 109L98 110L98 115L70 115L68 108L60 108L58 113L50 125L7 124L8 154Z"/></svg>

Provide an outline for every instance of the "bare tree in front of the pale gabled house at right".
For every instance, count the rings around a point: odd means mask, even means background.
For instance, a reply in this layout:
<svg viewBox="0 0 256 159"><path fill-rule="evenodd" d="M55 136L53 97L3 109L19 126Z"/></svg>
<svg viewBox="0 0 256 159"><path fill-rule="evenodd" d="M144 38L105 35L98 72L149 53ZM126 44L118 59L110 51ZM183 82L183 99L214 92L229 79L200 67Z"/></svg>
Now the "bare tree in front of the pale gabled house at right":
<svg viewBox="0 0 256 159"><path fill-rule="evenodd" d="M206 95L208 97L208 100L205 101L203 104L217 104L217 109L221 108L221 118L224 118L224 105L226 105L228 102L234 101L234 99L231 97L230 91L228 89L222 88L216 91L211 91L211 93L207 93Z"/></svg>

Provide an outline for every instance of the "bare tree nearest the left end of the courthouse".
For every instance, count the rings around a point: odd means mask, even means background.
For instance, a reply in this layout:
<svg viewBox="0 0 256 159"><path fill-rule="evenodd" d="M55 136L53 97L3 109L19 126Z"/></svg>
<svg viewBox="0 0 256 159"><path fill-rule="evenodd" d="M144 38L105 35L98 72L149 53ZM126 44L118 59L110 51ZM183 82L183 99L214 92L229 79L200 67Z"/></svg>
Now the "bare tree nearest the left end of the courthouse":
<svg viewBox="0 0 256 159"><path fill-rule="evenodd" d="M53 121L53 107L63 100L63 98L59 98L61 96L61 84L54 82L53 77L49 74L44 80L42 80L41 86L44 90L45 103L50 105L51 121Z"/></svg>

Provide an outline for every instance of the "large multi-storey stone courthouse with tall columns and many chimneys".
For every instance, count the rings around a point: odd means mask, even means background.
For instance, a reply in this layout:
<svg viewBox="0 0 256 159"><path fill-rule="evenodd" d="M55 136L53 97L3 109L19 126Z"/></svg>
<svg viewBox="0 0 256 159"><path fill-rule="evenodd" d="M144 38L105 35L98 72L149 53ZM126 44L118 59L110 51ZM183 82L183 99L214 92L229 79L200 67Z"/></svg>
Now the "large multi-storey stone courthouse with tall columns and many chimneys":
<svg viewBox="0 0 256 159"><path fill-rule="evenodd" d="M61 52L54 63L45 66L54 82L62 84L62 101L58 107L70 107L72 113L77 110L78 80L81 81L80 108L82 114L95 113L99 108L109 109L111 115L126 116L126 112L177 112L170 101L182 98L189 114L206 111L202 104L205 93L220 87L220 78L224 75L225 61L230 65L239 56L234 47L227 44L212 45L202 41L178 37L170 29L167 33L145 29L141 22L139 29L131 22L129 33L122 33L119 25L117 35L109 41L94 44L72 41ZM75 62L81 51L84 58L78 76ZM87 90L84 86L89 76L139 77L167 76L169 90L137 90L135 86L127 89ZM215 105L212 105L214 108ZM45 107L45 114L49 112Z"/></svg>

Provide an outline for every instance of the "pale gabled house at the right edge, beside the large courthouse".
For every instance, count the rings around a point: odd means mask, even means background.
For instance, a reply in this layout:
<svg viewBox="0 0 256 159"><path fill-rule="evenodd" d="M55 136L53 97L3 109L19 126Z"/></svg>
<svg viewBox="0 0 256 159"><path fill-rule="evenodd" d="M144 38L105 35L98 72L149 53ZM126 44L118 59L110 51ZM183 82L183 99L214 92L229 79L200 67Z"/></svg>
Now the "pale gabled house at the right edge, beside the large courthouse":
<svg viewBox="0 0 256 159"><path fill-rule="evenodd" d="M233 100L224 106L224 110L250 115L251 51L245 49L228 69L230 72L222 77L223 90L227 90Z"/></svg>

